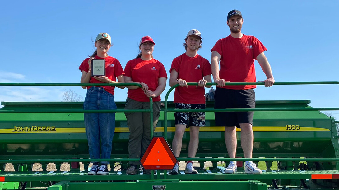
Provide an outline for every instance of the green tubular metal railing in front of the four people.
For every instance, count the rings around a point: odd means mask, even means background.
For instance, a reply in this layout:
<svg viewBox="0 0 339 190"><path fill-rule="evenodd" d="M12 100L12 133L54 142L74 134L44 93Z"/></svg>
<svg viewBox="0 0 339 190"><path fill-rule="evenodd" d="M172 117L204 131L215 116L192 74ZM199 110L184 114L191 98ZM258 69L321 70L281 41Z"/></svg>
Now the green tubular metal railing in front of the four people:
<svg viewBox="0 0 339 190"><path fill-rule="evenodd" d="M275 82L274 85L324 85L324 84L339 84L339 81L308 81L308 82ZM138 86L141 87L140 84L136 83L122 83L122 84L98 84L100 86ZM198 83L189 82L187 85L196 86ZM216 86L216 83L207 83L206 85ZM264 82L232 82L226 83L226 86L235 86L235 85L264 85ZM78 84L78 83L0 83L0 86L93 86L93 84ZM189 112L189 109L168 109L167 102L169 94L175 89L179 87L178 84L171 87L165 96L165 106L164 106L164 137L167 139L167 114L168 112ZM149 112L150 113L150 122L151 122L151 138L153 137L153 101L152 98L149 98L150 109L148 110L72 110L75 113L87 113L87 112ZM339 108L254 108L254 109L201 109L200 111L204 112L243 112L243 111L333 111L339 110ZM0 110L0 113L68 113L69 110ZM248 161L247 158L178 158L178 161ZM293 161L293 162L339 162L339 159L282 159L282 158L256 158L250 159L251 161ZM91 162L91 161L111 161L111 162L128 162L128 161L139 161L139 159L41 159L41 160L0 160L0 163L4 162L12 162L12 163L26 163L26 162ZM164 179L166 179L166 172L164 172ZM151 172L151 179L154 179L154 174Z"/></svg>

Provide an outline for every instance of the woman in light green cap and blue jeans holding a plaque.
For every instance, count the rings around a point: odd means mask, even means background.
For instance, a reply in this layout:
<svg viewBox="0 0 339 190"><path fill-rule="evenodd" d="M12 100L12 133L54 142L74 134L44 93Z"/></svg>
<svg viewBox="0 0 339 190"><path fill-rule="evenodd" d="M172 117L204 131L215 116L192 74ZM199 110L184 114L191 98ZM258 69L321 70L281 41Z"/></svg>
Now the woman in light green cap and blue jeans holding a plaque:
<svg viewBox="0 0 339 190"><path fill-rule="evenodd" d="M114 86L100 86L100 83L124 83L124 71L120 62L107 55L111 48L111 36L107 33L99 33L95 39L94 53L86 58L80 65L82 72L81 83L97 83L95 86L82 86L87 88L87 94L83 103L84 110L116 110L114 102ZM93 69L94 68L94 69ZM92 71L93 70L93 71ZM118 79L118 81L116 80ZM117 86L124 89L124 86ZM111 158L112 140L115 130L115 112L110 113L84 113L86 136L88 141L89 158ZM101 139L101 147L99 140ZM93 166L87 174L108 174L109 162L92 162Z"/></svg>

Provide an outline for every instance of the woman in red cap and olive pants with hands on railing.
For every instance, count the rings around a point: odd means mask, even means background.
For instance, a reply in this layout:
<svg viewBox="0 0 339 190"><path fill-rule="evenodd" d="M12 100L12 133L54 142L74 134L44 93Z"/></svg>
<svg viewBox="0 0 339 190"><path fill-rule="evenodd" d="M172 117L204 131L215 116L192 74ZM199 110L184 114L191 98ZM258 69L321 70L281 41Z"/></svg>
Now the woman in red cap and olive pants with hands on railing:
<svg viewBox="0 0 339 190"><path fill-rule="evenodd" d="M160 94L165 90L167 74L164 66L153 58L154 41L149 36L141 38L139 55L127 62L125 67L125 82L134 82L141 85L127 86L126 110L149 109L149 98L153 98L153 131L160 114ZM151 142L151 124L149 112L126 112L129 128L128 156L140 158ZM139 162L129 162L127 174L138 173ZM144 170L145 174L151 173Z"/></svg>

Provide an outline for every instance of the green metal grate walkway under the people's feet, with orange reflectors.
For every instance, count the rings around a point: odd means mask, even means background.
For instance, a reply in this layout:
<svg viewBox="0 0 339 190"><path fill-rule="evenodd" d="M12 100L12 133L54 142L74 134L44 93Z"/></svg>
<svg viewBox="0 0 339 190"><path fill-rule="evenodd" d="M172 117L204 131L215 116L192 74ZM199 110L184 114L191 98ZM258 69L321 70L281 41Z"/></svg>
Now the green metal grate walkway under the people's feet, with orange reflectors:
<svg viewBox="0 0 339 190"><path fill-rule="evenodd" d="M154 180L300 180L300 179L339 179L338 170L271 170L262 174L247 174L236 172L225 174L221 170L199 170L198 174L185 174L179 171L177 175L166 173L154 174ZM107 175L87 175L86 172L0 172L3 182L33 182L33 181L137 181L150 180L150 174L128 175L125 171L113 171Z"/></svg>

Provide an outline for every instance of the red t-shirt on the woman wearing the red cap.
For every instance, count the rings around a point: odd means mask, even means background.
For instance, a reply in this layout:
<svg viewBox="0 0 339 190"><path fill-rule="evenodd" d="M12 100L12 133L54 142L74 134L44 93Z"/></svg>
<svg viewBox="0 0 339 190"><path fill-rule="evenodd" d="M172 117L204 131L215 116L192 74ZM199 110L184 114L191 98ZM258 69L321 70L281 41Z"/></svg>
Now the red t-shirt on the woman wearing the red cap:
<svg viewBox="0 0 339 190"><path fill-rule="evenodd" d="M141 58L129 60L125 67L125 75L132 78L134 82L143 82L149 90L155 91L158 87L158 78L167 78L165 67L156 59L144 61ZM127 97L135 101L149 102L141 88L128 89ZM160 96L153 98L153 101L160 101Z"/></svg>

